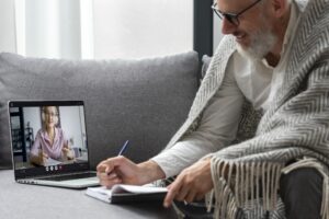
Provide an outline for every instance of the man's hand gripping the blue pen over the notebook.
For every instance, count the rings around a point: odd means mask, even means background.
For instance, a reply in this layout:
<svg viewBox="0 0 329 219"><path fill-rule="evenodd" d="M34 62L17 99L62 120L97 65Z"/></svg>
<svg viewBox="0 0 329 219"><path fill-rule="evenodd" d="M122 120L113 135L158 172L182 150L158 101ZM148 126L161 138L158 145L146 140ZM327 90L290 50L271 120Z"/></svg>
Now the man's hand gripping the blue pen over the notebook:
<svg viewBox="0 0 329 219"><path fill-rule="evenodd" d="M136 164L122 155L100 162L97 171L100 184L106 187L118 183L143 185L164 177L164 173L154 161Z"/></svg>

